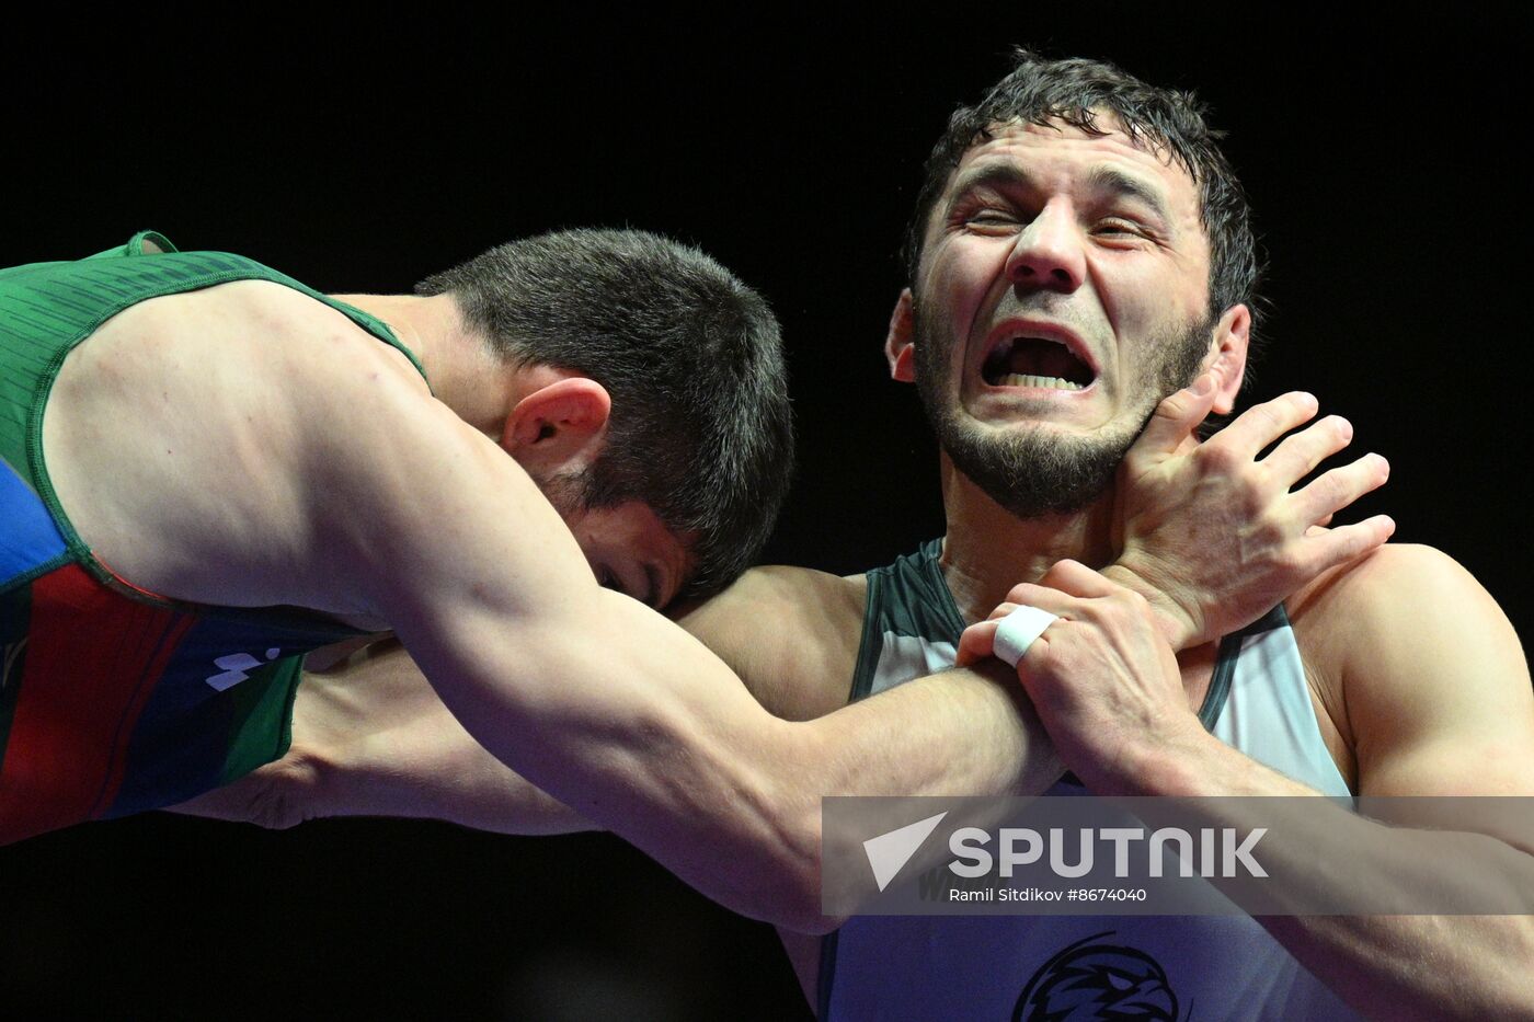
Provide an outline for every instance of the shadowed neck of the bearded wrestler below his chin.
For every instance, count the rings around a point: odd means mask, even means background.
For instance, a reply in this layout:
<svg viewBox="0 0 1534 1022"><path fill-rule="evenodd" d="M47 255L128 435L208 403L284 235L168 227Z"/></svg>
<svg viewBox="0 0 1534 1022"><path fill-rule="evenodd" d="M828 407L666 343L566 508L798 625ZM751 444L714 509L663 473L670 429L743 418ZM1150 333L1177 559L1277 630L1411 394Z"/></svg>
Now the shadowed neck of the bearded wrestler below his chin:
<svg viewBox="0 0 1534 1022"><path fill-rule="evenodd" d="M1066 557L1088 568L1112 560L1112 502L1109 490L1071 514L1019 519L988 497L968 476L942 456L943 579L968 621L985 620L1022 582L1037 582Z"/></svg>

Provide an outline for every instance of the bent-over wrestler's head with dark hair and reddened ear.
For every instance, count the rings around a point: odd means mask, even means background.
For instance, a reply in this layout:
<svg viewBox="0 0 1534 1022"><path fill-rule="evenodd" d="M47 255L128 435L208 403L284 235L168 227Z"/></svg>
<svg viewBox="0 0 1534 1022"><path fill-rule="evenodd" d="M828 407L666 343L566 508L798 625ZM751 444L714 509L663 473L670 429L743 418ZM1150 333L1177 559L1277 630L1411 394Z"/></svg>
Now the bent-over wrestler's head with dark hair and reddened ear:
<svg viewBox="0 0 1534 1022"><path fill-rule="evenodd" d="M653 606L723 586L787 493L778 321L703 252L638 230L512 241L422 281L531 374L502 445L603 585Z"/></svg>

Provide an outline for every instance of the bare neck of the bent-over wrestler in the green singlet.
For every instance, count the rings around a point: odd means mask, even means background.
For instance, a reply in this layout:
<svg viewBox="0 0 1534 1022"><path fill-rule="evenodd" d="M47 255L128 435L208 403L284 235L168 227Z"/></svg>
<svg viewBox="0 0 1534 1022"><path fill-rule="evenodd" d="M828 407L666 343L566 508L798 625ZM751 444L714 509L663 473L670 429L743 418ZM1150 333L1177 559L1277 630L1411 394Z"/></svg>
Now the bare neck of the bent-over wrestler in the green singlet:
<svg viewBox="0 0 1534 1022"><path fill-rule="evenodd" d="M514 404L511 373L469 330L451 295L333 295L388 324L431 382L431 391L466 424L499 437Z"/></svg>

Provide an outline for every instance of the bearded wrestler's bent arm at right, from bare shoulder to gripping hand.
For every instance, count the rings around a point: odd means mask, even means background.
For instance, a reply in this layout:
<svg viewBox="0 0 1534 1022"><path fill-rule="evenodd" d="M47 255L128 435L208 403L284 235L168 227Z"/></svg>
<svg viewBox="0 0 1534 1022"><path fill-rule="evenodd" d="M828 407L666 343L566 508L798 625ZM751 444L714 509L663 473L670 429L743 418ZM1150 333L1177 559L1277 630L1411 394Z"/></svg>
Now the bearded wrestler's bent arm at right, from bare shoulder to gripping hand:
<svg viewBox="0 0 1534 1022"><path fill-rule="evenodd" d="M1088 595L1091 580L1080 595ZM1020 594L1032 602L1035 594ZM1118 600L1121 594L1103 594ZM1049 606L1048 594L1037 594ZM1020 677L1066 763L1123 795L1315 795L1210 737L1186 709L1161 648L1124 608L1058 605ZM1129 600L1129 605L1134 602ZM1049 609L1057 609L1049 606ZM1132 617L1132 615L1131 615ZM1384 548L1322 577L1293 605L1309 669L1338 692L1361 795L1534 795L1534 692L1517 637L1462 568L1428 548ZM979 631L979 629L976 629ZM973 637L966 637L971 648ZM1129 666L1135 664L1135 666ZM1410 904L1425 890L1534 898L1534 836L1522 821L1477 833L1387 827L1330 806L1255 809L1203 799L1209 826L1269 827L1264 861L1293 905L1348 904L1359 878ZM1284 813L1282 818L1278 813ZM1316 862L1347 862L1318 870ZM1445 870L1453 862L1454 870ZM1262 916L1296 959L1378 1017L1523 1017L1534 1013L1534 916Z"/></svg>

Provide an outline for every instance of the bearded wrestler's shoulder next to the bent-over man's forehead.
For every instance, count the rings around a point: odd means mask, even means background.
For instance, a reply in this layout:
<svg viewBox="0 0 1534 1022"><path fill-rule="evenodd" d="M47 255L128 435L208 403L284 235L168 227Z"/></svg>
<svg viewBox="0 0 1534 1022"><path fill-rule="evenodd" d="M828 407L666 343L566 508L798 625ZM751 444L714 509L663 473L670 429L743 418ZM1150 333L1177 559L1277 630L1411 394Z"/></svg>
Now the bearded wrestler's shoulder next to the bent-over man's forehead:
<svg viewBox="0 0 1534 1022"><path fill-rule="evenodd" d="M847 703L867 583L808 568L753 568L678 621L769 710L810 720Z"/></svg>

